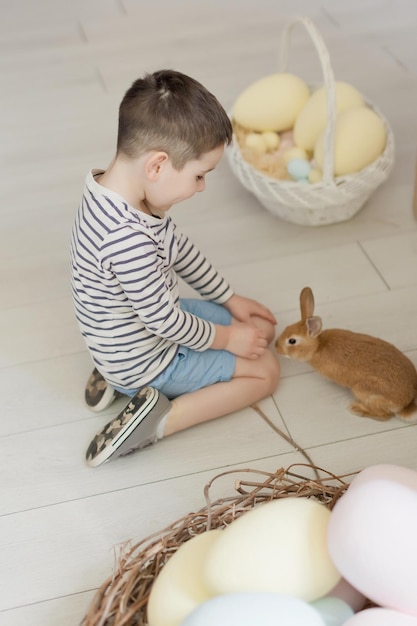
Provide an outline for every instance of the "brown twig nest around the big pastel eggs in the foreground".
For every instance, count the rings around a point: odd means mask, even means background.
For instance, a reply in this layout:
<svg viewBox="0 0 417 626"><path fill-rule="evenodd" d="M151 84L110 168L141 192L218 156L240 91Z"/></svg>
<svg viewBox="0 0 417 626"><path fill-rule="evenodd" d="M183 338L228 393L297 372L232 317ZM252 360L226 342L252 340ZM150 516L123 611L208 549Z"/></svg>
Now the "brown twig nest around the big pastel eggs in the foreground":
<svg viewBox="0 0 417 626"><path fill-rule="evenodd" d="M211 502L213 482L231 474L239 476L234 495ZM146 626L146 605L153 581L183 543L207 530L225 528L246 511L277 498L315 498L331 510L353 476L335 476L308 464L292 465L275 473L240 469L219 474L205 487L204 508L122 548L114 574L97 591L82 626Z"/></svg>

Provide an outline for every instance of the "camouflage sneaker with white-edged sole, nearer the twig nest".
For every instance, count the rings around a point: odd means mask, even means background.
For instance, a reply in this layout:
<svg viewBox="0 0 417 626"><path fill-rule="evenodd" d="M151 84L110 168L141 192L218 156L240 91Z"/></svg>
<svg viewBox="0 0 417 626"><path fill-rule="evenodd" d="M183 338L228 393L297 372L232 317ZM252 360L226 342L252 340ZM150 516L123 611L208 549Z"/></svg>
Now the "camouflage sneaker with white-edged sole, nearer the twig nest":
<svg viewBox="0 0 417 626"><path fill-rule="evenodd" d="M106 424L88 446L87 464L97 467L110 458L130 454L157 441L157 429L171 403L152 387L144 387L119 415Z"/></svg>

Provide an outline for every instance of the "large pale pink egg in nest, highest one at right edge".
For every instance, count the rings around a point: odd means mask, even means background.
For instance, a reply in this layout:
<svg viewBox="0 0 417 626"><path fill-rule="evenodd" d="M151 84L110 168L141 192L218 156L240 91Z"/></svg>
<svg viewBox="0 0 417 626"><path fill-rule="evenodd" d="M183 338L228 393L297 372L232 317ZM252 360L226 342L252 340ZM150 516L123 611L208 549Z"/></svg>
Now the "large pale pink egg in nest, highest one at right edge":
<svg viewBox="0 0 417 626"><path fill-rule="evenodd" d="M417 617L417 472L369 468L352 481L329 521L331 557L376 604Z"/></svg>

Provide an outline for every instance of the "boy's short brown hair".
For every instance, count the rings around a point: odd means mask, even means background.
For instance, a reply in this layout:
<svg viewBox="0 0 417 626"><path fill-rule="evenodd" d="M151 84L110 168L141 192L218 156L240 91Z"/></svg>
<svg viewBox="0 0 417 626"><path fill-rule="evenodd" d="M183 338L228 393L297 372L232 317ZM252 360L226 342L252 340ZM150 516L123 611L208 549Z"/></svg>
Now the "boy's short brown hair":
<svg viewBox="0 0 417 626"><path fill-rule="evenodd" d="M136 80L119 108L117 153L166 152L176 170L232 141L226 111L198 81L174 70Z"/></svg>

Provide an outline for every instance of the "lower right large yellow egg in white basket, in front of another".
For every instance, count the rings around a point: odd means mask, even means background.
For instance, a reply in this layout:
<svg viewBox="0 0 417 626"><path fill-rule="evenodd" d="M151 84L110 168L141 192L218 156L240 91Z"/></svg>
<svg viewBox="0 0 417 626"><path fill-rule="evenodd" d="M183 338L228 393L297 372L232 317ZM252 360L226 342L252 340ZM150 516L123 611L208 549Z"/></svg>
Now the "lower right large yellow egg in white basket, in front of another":
<svg viewBox="0 0 417 626"><path fill-rule="evenodd" d="M324 133L314 149L317 165L323 169ZM335 176L353 174L367 167L384 151L387 142L385 124L375 111L365 106L342 111L336 118L334 139Z"/></svg>

